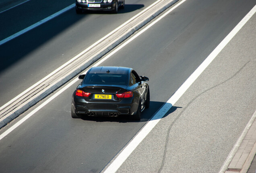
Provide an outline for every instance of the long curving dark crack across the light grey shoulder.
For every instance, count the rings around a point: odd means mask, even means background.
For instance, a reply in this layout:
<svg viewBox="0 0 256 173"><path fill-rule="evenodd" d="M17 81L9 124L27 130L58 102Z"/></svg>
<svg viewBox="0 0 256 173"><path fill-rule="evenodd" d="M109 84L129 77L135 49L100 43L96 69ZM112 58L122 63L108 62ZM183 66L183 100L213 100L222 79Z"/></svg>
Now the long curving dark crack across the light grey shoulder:
<svg viewBox="0 0 256 173"><path fill-rule="evenodd" d="M166 136L166 140L165 140L165 149L164 149L164 153L163 153L163 159L162 159L162 163L161 163L161 167L159 168L159 170L157 171L158 173L161 173L164 165L165 165L165 158L166 158L166 153L167 153L167 147L168 147L168 142L169 142L169 135L170 135L170 131L171 128L173 127L174 123L180 118L180 116L182 115L182 113L191 105L191 103L193 103L200 95L206 93L207 91L210 91L211 89L218 87L221 84L224 84L225 82L227 82L228 80L230 80L231 78L235 77L248 63L250 62L250 60L248 62L246 62L235 74L233 74L233 76L231 76L230 78L228 78L227 80L203 91L202 93L198 94L196 97L194 97L194 99L192 99L188 105L186 105L186 107L184 107L184 109L180 112L180 114L174 119L174 121L171 123L171 125L169 126L169 129L167 131L167 136Z"/></svg>

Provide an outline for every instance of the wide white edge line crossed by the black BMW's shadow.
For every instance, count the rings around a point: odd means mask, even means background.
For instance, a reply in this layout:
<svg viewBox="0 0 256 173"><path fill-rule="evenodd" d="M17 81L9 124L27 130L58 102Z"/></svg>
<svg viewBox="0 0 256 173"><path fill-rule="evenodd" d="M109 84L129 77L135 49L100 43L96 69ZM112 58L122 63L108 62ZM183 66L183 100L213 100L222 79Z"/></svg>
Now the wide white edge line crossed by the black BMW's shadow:
<svg viewBox="0 0 256 173"><path fill-rule="evenodd" d="M186 0L181 1L177 6ZM171 12L167 11L164 15ZM207 66L215 59L221 50L229 43L229 41L237 34L237 32L248 22L252 15L256 12L256 6L233 28L233 30L221 41L221 43L211 52L211 54L196 68L196 70L188 77L188 79L180 86L180 88L173 94L172 97L163 105L163 107L153 116L153 118L143 127L143 129L134 137L134 139L124 148L124 150L116 157L116 159L107 167L104 173L115 173L140 142L149 134L149 132L157 125L161 118L171 109L172 105L180 99L191 84L198 78L198 76L206 69Z"/></svg>

